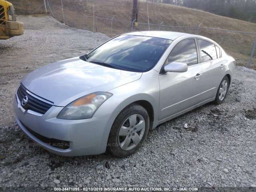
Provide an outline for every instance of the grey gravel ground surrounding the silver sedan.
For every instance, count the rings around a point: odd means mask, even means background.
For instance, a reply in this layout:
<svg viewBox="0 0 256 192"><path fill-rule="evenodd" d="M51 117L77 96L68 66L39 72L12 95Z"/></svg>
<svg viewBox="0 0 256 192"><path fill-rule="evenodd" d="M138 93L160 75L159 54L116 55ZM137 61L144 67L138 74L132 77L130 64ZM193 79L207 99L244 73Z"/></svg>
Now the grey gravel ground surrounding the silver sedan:
<svg viewBox="0 0 256 192"><path fill-rule="evenodd" d="M256 71L237 67L224 104L206 104L161 124L128 158L57 156L20 130L12 110L14 92L32 70L80 56L108 37L67 27L50 16L19 16L18 20L25 23L25 34L0 41L0 187L256 189Z"/></svg>

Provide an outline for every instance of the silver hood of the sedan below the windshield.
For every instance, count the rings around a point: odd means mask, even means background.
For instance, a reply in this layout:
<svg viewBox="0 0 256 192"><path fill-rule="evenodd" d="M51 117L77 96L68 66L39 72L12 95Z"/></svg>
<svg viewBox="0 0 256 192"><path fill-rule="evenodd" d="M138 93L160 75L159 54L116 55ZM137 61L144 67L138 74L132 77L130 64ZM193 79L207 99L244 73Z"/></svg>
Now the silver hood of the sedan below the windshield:
<svg viewBox="0 0 256 192"><path fill-rule="evenodd" d="M76 57L34 70L22 79L22 84L55 106L66 106L84 95L107 92L136 81L141 75L139 72L108 68Z"/></svg>

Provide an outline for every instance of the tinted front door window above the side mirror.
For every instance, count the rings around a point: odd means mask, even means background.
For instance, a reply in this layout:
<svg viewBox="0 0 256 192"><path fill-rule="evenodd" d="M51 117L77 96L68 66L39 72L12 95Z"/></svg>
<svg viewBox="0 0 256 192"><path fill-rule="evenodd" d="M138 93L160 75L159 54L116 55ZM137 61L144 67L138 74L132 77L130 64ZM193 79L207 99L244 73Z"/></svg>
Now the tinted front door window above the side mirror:
<svg viewBox="0 0 256 192"><path fill-rule="evenodd" d="M171 62L186 63L188 65L198 63L195 40L188 39L179 42L170 52L164 65Z"/></svg>

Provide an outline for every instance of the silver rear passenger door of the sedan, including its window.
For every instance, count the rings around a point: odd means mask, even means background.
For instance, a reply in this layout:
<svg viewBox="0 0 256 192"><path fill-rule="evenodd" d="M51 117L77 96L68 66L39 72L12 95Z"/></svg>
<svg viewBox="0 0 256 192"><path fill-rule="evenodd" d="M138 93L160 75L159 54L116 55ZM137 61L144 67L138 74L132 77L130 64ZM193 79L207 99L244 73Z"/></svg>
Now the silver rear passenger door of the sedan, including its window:
<svg viewBox="0 0 256 192"><path fill-rule="evenodd" d="M225 61L221 57L220 48L214 43L197 38L200 62L203 75L201 98L203 101L216 96L218 86L225 74Z"/></svg>

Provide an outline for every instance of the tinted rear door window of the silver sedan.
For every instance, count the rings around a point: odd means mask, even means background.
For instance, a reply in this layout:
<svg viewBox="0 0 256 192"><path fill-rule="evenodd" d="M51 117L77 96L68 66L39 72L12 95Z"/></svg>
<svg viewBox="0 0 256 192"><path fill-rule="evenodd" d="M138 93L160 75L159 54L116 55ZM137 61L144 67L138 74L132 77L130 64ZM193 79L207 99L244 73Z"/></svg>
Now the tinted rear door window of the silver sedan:
<svg viewBox="0 0 256 192"><path fill-rule="evenodd" d="M215 45L204 40L198 40L200 46L200 52L202 56L201 62L210 61L217 58Z"/></svg>

